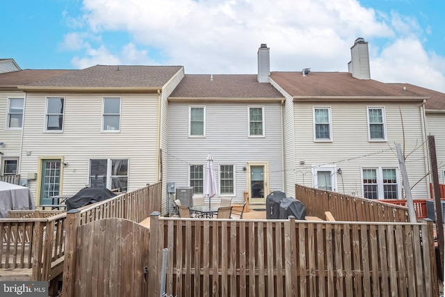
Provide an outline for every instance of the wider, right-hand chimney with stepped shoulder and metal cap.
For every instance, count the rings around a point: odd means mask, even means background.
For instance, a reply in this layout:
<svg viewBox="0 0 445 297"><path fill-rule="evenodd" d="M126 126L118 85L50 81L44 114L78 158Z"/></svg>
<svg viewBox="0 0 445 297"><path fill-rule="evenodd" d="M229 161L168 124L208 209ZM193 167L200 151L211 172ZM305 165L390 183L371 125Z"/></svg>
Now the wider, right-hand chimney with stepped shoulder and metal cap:
<svg viewBox="0 0 445 297"><path fill-rule="evenodd" d="M356 79L371 79L368 42L364 41L364 38L355 40L353 47L350 48L350 56L348 72Z"/></svg>

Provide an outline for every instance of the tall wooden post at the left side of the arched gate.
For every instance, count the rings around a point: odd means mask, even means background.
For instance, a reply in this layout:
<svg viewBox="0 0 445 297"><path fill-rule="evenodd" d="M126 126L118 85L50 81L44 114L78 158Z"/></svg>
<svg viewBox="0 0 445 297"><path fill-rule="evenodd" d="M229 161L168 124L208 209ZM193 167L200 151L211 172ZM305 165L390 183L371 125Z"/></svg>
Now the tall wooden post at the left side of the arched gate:
<svg viewBox="0 0 445 297"><path fill-rule="evenodd" d="M77 232L81 223L79 209L67 211L65 227L65 259L63 260L63 297L74 297L76 278Z"/></svg>

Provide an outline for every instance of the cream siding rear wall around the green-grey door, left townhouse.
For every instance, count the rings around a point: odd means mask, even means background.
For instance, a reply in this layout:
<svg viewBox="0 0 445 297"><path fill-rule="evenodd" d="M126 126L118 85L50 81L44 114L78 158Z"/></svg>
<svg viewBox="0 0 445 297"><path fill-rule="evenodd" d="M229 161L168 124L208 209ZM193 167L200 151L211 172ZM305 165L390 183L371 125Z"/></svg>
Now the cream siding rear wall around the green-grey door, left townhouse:
<svg viewBox="0 0 445 297"><path fill-rule="evenodd" d="M65 97L63 133L44 132L48 95L28 93L26 96L20 174L38 173L38 179L30 183L37 201L39 158L60 157L68 163L61 172L60 193L63 194L77 193L88 185L90 159L129 159L128 191L157 182L157 93L51 94L50 97ZM103 97L122 98L118 133L101 132Z"/></svg>

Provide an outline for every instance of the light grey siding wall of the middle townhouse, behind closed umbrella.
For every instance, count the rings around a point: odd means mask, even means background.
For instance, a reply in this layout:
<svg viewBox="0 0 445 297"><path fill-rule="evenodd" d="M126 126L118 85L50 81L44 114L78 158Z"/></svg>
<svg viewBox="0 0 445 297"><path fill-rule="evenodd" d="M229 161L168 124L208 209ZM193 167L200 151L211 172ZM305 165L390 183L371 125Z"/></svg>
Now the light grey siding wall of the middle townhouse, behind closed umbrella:
<svg viewBox="0 0 445 297"><path fill-rule="evenodd" d="M188 137L189 106L205 106L205 137ZM264 106L265 137L248 137L248 106ZM234 165L232 202L243 202L248 162L268 162L269 191L283 191L280 102L170 102L169 119L168 182L189 186L189 164L204 165L211 154L217 177L220 164Z"/></svg>

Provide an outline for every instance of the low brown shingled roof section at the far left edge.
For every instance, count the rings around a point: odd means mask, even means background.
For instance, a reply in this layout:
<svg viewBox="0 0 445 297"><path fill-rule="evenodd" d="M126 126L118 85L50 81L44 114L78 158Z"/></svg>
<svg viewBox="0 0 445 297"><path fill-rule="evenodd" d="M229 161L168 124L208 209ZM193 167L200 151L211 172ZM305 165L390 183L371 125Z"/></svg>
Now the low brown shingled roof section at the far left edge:
<svg viewBox="0 0 445 297"><path fill-rule="evenodd" d="M58 77L73 70L18 70L0 74L0 88L17 88L36 81Z"/></svg>

